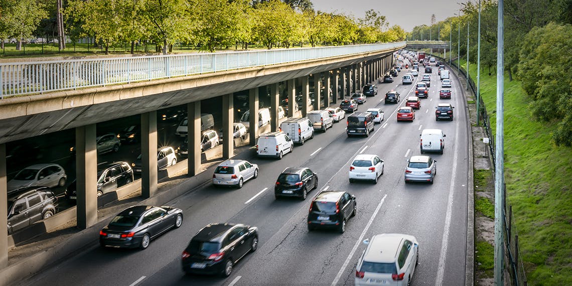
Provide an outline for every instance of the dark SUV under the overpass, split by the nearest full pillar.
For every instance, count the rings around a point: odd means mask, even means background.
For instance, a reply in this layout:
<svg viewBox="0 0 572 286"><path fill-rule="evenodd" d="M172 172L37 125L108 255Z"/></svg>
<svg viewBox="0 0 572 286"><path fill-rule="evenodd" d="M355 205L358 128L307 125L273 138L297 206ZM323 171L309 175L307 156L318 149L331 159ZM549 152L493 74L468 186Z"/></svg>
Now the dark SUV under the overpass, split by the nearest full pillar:
<svg viewBox="0 0 572 286"><path fill-rule="evenodd" d="M97 165L97 196L114 192L117 188L133 182L133 169L127 162L104 162ZM76 200L77 182L67 186L66 198Z"/></svg>

